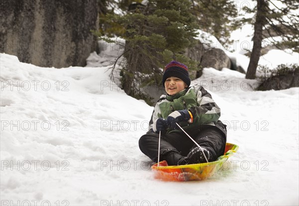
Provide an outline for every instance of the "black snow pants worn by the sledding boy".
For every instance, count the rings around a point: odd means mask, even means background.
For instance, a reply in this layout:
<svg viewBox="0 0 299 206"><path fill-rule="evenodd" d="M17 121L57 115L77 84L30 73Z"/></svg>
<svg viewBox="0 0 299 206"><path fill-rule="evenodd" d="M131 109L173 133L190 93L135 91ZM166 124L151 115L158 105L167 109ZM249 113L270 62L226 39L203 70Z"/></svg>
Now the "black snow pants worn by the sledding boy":
<svg viewBox="0 0 299 206"><path fill-rule="evenodd" d="M226 128L222 122L220 123L222 125L221 129L217 128L217 126L207 125L188 132L201 147L209 151L209 162L215 161L219 156L224 154ZM147 133L139 139L140 150L155 163L158 157L158 142L159 134L154 132ZM181 156L187 156L195 147L197 147L197 145L183 131L161 134L160 161L166 160L167 154L171 152L179 153ZM176 163L173 165L176 165Z"/></svg>

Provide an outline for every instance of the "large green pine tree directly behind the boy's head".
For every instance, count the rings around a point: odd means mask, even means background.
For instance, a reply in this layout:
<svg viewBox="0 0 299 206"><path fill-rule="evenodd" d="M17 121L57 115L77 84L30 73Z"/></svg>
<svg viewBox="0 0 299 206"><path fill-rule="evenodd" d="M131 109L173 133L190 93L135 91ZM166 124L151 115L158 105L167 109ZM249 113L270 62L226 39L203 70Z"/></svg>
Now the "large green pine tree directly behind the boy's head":
<svg viewBox="0 0 299 206"><path fill-rule="evenodd" d="M189 0L148 0L130 4L124 15L106 15L111 25L121 28L118 35L126 41L121 82L128 95L148 99L143 88L159 84L160 68L171 60L197 67L183 55L199 28L190 7Z"/></svg>

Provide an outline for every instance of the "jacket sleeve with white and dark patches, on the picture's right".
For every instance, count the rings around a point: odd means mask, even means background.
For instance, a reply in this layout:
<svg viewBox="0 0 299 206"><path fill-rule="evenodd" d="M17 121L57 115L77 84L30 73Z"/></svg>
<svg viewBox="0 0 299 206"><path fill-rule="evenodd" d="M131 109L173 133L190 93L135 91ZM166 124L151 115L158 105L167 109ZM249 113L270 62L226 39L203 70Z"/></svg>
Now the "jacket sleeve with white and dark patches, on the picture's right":
<svg viewBox="0 0 299 206"><path fill-rule="evenodd" d="M216 123L220 117L220 108L203 87L199 86L197 93L197 106L192 106L189 110L193 114L194 123L208 124Z"/></svg>

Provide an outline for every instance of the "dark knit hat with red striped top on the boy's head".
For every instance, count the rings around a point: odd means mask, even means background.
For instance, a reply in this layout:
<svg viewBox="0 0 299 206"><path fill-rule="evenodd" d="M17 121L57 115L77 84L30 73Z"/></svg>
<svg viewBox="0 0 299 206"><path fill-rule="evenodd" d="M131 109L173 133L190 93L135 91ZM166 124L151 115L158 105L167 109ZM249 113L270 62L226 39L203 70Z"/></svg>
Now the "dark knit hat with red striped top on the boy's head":
<svg viewBox="0 0 299 206"><path fill-rule="evenodd" d="M189 78L188 73L188 67L176 61L171 61L169 64L165 66L162 78L163 87L165 87L164 83L168 77L177 77L184 81L184 83L186 83L188 87L191 84L191 80Z"/></svg>

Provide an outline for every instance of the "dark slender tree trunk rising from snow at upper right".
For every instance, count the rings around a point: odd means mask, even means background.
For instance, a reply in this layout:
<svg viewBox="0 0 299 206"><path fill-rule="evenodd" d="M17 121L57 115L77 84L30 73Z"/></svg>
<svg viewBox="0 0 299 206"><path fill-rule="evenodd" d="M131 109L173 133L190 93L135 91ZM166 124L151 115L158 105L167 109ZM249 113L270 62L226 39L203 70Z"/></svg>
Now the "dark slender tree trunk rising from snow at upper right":
<svg viewBox="0 0 299 206"><path fill-rule="evenodd" d="M247 68L246 79L255 79L258 63L261 56L263 26L266 23L266 2L265 0L257 0L257 15L254 24L253 48L250 56L250 62Z"/></svg>

